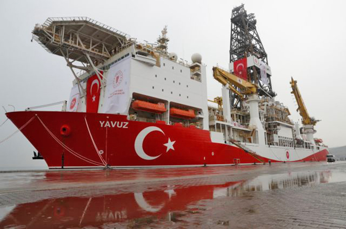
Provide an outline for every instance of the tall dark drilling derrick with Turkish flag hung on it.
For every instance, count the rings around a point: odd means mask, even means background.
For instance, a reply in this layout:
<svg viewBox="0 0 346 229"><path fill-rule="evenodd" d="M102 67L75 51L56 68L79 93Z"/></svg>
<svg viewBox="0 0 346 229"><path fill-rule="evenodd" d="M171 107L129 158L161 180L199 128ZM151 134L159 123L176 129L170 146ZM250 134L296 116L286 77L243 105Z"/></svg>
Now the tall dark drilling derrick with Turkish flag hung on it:
<svg viewBox="0 0 346 229"><path fill-rule="evenodd" d="M268 66L267 54L259 38L256 24L255 14L248 14L244 4L232 10L229 70L238 75L239 68L236 64L243 60L243 64L239 66L240 68L246 66L240 77L257 85L259 96L275 97L276 94L271 86L271 70ZM241 107L241 99L234 92L231 93L231 106L232 108Z"/></svg>

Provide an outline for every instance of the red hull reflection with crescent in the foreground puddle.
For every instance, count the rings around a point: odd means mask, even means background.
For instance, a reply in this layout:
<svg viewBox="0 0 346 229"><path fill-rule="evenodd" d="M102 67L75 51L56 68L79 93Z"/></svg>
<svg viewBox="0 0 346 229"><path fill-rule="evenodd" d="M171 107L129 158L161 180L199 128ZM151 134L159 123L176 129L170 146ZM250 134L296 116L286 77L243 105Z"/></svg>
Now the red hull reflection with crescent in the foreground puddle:
<svg viewBox="0 0 346 229"><path fill-rule="evenodd" d="M202 199L213 199L217 190L241 182L220 185L171 187L160 191L109 194L96 197L65 197L19 204L0 220L0 228L26 225L26 228L100 226L144 217L173 220L174 211Z"/></svg>

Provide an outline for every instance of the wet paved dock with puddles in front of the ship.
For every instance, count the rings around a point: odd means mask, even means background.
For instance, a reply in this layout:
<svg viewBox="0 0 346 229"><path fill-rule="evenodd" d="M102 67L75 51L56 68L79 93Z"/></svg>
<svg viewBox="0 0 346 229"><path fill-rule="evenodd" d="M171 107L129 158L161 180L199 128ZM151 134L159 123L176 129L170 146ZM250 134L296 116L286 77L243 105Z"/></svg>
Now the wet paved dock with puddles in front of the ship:
<svg viewBox="0 0 346 229"><path fill-rule="evenodd" d="M346 228L346 163L2 172L0 228Z"/></svg>

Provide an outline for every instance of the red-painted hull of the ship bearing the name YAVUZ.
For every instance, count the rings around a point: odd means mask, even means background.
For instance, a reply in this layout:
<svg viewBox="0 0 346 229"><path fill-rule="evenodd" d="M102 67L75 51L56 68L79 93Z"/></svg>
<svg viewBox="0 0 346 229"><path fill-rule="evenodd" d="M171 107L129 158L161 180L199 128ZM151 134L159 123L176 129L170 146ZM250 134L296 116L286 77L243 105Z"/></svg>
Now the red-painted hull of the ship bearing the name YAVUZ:
<svg viewBox="0 0 346 229"><path fill-rule="evenodd" d="M262 163L196 128L130 121L125 115L72 112L6 114L43 155L49 168L161 167ZM308 157L325 160L327 150ZM309 160L308 157L304 158ZM239 160L238 160L239 161ZM271 160L272 162L276 162ZM300 160L302 161L302 160Z"/></svg>

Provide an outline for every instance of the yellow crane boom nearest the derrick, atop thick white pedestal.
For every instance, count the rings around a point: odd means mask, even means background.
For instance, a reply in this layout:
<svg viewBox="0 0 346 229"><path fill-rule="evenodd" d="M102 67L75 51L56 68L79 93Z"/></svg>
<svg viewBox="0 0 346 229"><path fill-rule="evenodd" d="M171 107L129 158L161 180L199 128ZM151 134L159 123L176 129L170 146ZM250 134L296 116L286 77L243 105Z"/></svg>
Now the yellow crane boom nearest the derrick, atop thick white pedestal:
<svg viewBox="0 0 346 229"><path fill-rule="evenodd" d="M252 84L245 79L242 79L217 67L213 67L213 76L217 81L222 83L222 85L228 84L229 89L236 93L241 99L244 98L244 95L257 93L257 86L255 84ZM233 85L238 89L236 89Z"/></svg>

